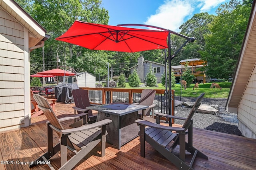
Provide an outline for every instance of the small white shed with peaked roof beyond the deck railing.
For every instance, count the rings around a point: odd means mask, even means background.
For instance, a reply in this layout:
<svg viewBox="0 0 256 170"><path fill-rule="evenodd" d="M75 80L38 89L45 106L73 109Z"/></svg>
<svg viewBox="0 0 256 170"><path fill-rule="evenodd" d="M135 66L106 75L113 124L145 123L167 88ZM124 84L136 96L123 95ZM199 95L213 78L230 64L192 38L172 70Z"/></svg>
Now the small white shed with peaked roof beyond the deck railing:
<svg viewBox="0 0 256 170"><path fill-rule="evenodd" d="M76 76L78 87L94 87L96 86L96 78L88 72L80 72Z"/></svg>

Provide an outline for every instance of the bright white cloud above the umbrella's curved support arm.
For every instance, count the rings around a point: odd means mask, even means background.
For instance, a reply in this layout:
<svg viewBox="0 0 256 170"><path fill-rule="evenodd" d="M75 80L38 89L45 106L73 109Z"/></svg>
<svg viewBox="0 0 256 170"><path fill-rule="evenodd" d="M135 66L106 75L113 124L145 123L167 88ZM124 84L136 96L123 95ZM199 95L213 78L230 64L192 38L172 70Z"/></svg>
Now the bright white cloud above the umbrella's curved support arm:
<svg viewBox="0 0 256 170"><path fill-rule="evenodd" d="M188 0L167 0L158 8L156 14L148 17L145 24L178 32L184 18L192 15L193 11L194 8Z"/></svg>

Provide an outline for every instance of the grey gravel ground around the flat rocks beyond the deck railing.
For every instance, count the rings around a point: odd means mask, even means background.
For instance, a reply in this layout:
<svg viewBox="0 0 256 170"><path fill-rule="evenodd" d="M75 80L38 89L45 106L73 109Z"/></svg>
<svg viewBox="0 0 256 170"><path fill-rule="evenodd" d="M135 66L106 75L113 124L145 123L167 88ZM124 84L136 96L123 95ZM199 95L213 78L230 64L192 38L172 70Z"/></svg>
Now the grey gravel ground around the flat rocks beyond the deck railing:
<svg viewBox="0 0 256 170"><path fill-rule="evenodd" d="M180 100L180 97L175 97L175 100ZM182 97L181 101L182 103L195 102L196 98ZM193 117L193 127L242 136L242 133L238 129L237 114L228 113L225 110L226 101L227 99L225 98L203 98L201 102L202 104L218 105L219 113L216 115L212 115L196 112ZM186 108L184 106L175 107L175 111L177 111L176 116L179 117L187 117L190 113L190 110L191 108ZM183 124L184 121L175 120L175 123Z"/></svg>

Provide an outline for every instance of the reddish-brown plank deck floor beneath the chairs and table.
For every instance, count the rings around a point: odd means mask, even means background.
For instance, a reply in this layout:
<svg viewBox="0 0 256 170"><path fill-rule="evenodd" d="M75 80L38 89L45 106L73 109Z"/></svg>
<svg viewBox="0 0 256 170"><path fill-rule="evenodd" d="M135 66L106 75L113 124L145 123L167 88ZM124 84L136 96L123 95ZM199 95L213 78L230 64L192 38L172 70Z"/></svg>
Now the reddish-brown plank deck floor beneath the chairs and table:
<svg viewBox="0 0 256 170"><path fill-rule="evenodd" d="M56 115L63 117L73 115L74 104L56 104ZM28 163L34 161L47 149L46 117L33 117L30 127L0 134L0 170L30 169ZM68 127L71 122L65 122ZM204 152L209 160L196 158L194 169L211 170L255 170L256 169L256 140L245 137L218 133L194 128L194 147ZM54 143L58 137L54 134ZM106 156L100 157L100 145L93 149L74 169L114 169L114 170L170 170L177 168L161 154L146 143L146 157L140 156L139 137L127 143L120 150L107 143ZM72 152L68 152L72 154ZM191 159L188 155L187 159ZM19 163L19 164L18 164ZM22 165L21 163L26 163ZM51 158L54 168L60 167L60 156ZM34 166L34 169L50 169L46 165Z"/></svg>

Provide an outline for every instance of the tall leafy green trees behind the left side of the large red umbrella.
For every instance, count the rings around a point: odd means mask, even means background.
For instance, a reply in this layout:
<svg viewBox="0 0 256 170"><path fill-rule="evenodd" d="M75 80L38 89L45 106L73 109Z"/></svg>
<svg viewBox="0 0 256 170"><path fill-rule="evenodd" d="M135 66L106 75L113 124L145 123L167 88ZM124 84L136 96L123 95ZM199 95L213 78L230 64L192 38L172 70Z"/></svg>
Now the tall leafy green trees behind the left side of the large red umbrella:
<svg viewBox="0 0 256 170"><path fill-rule="evenodd" d="M94 73L94 64L99 65L99 69L106 68L104 63L108 62L96 60L97 57L105 60L106 55L104 53L106 52L91 53L91 50L84 47L55 40L56 37L66 32L75 20L108 24L108 11L100 6L100 0L18 0L17 2L22 7L25 7L25 10L50 35L50 38L45 41L44 45L47 70L57 67L57 53L60 59L59 65L76 67L78 70L90 73ZM91 53L91 55L88 56L88 53ZM34 63L34 61L40 63L40 66L37 68L39 70L37 71L41 71L42 48L35 49L30 56L31 63ZM102 58L102 56L104 57ZM79 58L78 61L76 58ZM87 60L87 58L89 59ZM88 61L91 61L91 63ZM89 65L91 67L87 67Z"/></svg>

